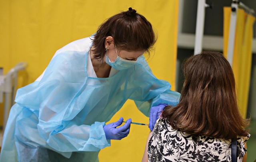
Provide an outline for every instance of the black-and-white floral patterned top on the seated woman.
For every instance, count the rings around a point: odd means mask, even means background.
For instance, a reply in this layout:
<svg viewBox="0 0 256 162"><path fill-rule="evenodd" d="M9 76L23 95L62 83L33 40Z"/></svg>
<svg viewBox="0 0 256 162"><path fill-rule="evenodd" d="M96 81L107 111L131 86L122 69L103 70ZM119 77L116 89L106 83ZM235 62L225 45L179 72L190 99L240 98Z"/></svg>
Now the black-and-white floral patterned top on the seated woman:
<svg viewBox="0 0 256 162"><path fill-rule="evenodd" d="M249 139L238 136L238 162L246 153ZM231 162L231 140L209 136L192 136L170 126L167 119L158 119L148 143L149 162Z"/></svg>

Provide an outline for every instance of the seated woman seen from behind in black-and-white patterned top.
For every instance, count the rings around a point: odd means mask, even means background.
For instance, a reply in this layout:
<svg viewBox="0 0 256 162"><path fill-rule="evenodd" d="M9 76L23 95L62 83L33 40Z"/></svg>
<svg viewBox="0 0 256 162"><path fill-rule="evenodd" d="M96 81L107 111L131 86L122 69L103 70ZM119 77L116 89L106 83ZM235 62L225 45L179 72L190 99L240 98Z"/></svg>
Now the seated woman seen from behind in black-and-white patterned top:
<svg viewBox="0 0 256 162"><path fill-rule="evenodd" d="M185 82L180 103L166 106L148 137L142 161L231 161L231 140L237 140L237 161L246 161L244 128L249 121L238 111L232 68L222 53L204 51L183 64Z"/></svg>

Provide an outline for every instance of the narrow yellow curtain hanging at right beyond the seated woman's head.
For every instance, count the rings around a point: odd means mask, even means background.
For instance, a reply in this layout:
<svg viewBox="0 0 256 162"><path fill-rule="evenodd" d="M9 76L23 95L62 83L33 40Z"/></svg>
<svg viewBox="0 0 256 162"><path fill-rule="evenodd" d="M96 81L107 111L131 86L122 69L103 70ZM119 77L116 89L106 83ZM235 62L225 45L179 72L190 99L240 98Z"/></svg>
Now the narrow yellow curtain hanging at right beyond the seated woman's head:
<svg viewBox="0 0 256 162"><path fill-rule="evenodd" d="M231 8L224 7L224 49L227 57L228 36L230 28ZM252 66L252 38L255 17L242 9L237 11L236 36L234 41L234 55L232 68L235 75L238 106L241 115L246 118L248 95L250 87L250 74Z"/></svg>

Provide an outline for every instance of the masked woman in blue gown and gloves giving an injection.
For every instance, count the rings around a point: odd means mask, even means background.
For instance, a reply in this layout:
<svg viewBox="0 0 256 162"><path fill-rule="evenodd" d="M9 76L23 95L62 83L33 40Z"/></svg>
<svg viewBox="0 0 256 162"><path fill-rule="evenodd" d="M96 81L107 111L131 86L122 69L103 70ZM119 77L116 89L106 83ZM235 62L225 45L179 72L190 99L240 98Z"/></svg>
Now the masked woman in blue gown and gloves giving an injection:
<svg viewBox="0 0 256 162"><path fill-rule="evenodd" d="M143 56L155 41L150 22L129 8L56 51L44 73L18 89L0 161L98 161L110 140L129 134L131 119L105 124L127 99L150 114L152 130L164 105L180 97Z"/></svg>

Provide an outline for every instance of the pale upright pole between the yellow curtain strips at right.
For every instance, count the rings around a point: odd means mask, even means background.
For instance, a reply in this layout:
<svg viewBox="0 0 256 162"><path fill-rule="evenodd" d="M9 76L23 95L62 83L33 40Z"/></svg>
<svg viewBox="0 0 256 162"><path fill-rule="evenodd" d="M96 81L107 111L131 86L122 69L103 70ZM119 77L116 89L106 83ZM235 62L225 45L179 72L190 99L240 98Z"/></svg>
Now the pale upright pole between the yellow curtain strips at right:
<svg viewBox="0 0 256 162"><path fill-rule="evenodd" d="M234 45L235 45L235 36L236 36L236 17L237 17L237 10L238 4L232 3L231 4L232 12L230 17L230 26L229 26L229 34L228 34L228 62L232 66L233 64L233 56L234 56Z"/></svg>

